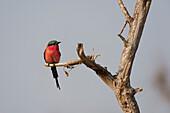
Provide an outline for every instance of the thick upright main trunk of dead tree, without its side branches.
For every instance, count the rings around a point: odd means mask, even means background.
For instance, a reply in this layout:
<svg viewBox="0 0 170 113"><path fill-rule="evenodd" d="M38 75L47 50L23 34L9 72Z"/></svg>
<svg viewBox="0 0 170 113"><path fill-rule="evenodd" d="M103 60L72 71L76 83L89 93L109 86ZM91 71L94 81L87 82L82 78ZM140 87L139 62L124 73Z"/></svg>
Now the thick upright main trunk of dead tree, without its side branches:
<svg viewBox="0 0 170 113"><path fill-rule="evenodd" d="M135 93L140 92L142 89L134 89L130 85L130 74L135 58L135 54L142 36L144 24L146 21L147 14L151 0L138 0L136 3L133 22L131 23L127 47L124 46L121 61L119 64L117 78L121 82L115 82L114 92L117 100L125 113L139 113L139 107L133 96ZM118 86L118 87L117 87ZM122 86L122 87L119 87ZM124 91L124 93L119 93ZM123 98L122 98L123 97Z"/></svg>

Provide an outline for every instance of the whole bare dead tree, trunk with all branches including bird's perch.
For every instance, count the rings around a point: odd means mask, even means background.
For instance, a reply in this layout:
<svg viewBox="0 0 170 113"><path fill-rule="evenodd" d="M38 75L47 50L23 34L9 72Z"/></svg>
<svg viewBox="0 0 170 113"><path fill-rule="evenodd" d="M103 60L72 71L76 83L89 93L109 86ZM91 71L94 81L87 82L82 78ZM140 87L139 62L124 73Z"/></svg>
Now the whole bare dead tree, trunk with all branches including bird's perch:
<svg viewBox="0 0 170 113"><path fill-rule="evenodd" d="M133 17L131 17L122 0L118 0L119 6L126 17L126 21L120 34L118 34L124 43L124 47L117 75L112 75L106 68L96 64L96 58L94 58L94 55L85 56L82 43L79 43L77 47L77 54L80 59L66 63L46 64L46 66L55 65L73 68L73 65L77 65L79 63L85 64L87 67L94 70L96 74L114 91L118 103L125 113L139 113L139 107L134 95L137 92L142 91L142 89L134 89L131 87L130 74L151 1L152 0L137 0ZM121 34L127 23L130 28L128 37L125 39Z"/></svg>

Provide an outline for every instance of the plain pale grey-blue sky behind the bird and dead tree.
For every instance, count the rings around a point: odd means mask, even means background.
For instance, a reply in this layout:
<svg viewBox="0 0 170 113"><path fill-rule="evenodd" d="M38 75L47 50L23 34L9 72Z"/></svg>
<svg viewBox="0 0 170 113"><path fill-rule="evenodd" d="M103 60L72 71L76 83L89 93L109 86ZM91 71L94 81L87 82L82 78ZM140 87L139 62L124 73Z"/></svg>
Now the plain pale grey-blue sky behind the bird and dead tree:
<svg viewBox="0 0 170 113"><path fill-rule="evenodd" d="M125 3L131 15L134 1ZM170 111L153 83L159 64L170 67L169 5L152 1L134 61L131 84L144 89L135 96L142 113ZM114 92L84 65L69 77L58 68L59 91L43 52L50 40L61 41L60 62L67 62L78 58L82 42L86 54L94 48L101 54L96 62L115 74L124 22L116 0L0 0L0 113L123 113Z"/></svg>

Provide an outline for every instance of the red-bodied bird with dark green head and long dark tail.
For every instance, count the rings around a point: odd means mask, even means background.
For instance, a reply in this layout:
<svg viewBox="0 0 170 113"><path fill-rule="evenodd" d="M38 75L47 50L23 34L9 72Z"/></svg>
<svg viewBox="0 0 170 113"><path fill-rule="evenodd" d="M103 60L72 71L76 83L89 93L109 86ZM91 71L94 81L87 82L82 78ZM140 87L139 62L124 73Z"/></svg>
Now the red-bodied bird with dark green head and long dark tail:
<svg viewBox="0 0 170 113"><path fill-rule="evenodd" d="M46 63L49 64L59 63L61 57L61 53L59 51L59 43L61 42L56 40L51 40L50 42L48 42L47 47L44 51L44 60ZM52 70L53 78L56 81L56 86L60 90L57 69L55 66L53 66L51 67L51 70Z"/></svg>

